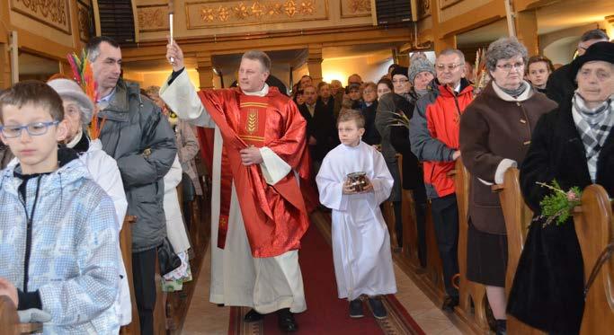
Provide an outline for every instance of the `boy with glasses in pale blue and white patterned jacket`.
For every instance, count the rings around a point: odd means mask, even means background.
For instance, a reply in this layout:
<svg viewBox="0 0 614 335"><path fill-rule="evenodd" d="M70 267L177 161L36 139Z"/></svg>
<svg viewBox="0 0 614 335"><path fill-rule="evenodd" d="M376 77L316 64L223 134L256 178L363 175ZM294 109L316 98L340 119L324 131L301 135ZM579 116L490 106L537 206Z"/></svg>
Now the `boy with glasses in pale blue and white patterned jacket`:
<svg viewBox="0 0 614 335"><path fill-rule="evenodd" d="M0 172L0 295L45 334L117 333L117 218L76 153L58 148L63 116L47 84L0 94L0 139L19 160Z"/></svg>

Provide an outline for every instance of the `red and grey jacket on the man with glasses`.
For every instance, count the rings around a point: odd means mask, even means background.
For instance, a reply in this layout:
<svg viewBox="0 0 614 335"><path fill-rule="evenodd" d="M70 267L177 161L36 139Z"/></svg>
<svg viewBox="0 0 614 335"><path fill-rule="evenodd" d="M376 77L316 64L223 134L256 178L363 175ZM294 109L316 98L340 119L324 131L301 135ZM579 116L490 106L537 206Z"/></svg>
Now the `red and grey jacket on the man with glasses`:
<svg viewBox="0 0 614 335"><path fill-rule="evenodd" d="M441 198L455 192L448 172L454 169L452 154L458 150L460 115L473 101L473 86L465 78L460 93L432 81L432 92L417 101L410 119L412 152L424 165L424 183L429 198Z"/></svg>

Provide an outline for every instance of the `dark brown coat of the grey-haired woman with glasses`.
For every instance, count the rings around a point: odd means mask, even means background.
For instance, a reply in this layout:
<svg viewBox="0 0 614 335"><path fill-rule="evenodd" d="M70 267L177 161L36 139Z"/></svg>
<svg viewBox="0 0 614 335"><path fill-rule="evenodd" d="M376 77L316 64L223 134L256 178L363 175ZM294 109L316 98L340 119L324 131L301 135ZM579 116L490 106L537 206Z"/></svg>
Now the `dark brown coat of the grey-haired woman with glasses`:
<svg viewBox="0 0 614 335"><path fill-rule="evenodd" d="M460 117L461 158L471 173L468 215L479 231L505 234L499 195L482 181L494 183L494 174L504 158L520 166L538 119L556 109L556 102L544 94L531 94L525 101L503 101L491 82Z"/></svg>

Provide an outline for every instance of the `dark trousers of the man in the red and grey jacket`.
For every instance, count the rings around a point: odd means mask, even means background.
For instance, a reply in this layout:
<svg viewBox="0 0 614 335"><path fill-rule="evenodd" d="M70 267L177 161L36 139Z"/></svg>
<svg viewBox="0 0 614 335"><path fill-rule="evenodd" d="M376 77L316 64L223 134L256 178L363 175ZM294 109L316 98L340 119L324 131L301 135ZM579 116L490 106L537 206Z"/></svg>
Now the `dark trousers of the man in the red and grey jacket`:
<svg viewBox="0 0 614 335"><path fill-rule="evenodd" d="M446 293L458 296L452 277L458 273L458 205L456 194L431 199L432 221L443 267Z"/></svg>

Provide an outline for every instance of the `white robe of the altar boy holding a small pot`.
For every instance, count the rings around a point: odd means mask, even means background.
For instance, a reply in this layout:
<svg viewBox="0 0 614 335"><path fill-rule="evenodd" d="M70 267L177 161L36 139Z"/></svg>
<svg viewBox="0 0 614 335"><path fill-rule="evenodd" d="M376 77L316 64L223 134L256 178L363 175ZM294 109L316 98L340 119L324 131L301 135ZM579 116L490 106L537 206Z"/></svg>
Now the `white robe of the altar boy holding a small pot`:
<svg viewBox="0 0 614 335"><path fill-rule="evenodd" d="M366 172L373 192L343 194L351 172ZM390 236L379 204L392 190L384 157L371 145L338 145L316 176L320 202L333 209L333 260L339 298L396 293Z"/></svg>

